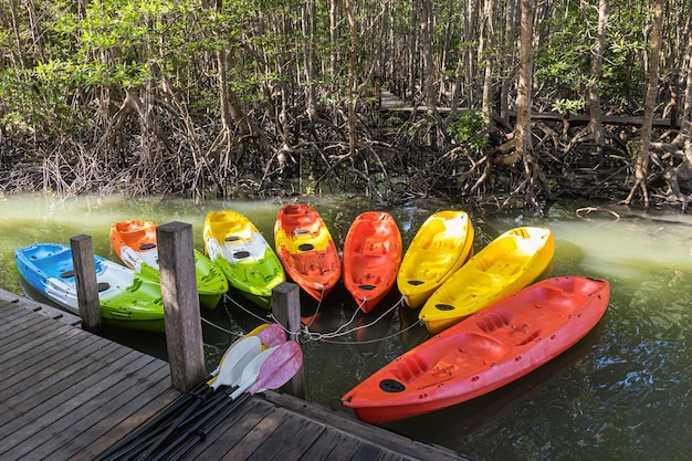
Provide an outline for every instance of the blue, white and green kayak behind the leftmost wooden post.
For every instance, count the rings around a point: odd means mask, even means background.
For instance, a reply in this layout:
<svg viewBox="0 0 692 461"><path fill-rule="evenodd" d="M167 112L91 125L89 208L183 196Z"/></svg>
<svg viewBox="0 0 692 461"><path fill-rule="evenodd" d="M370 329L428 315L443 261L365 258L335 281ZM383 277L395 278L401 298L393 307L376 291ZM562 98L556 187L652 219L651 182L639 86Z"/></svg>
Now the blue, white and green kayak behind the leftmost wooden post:
<svg viewBox="0 0 692 461"><path fill-rule="evenodd" d="M34 243L14 250L22 277L42 295L80 315L72 249L61 243ZM105 258L94 255L98 302L105 324L165 332L161 285Z"/></svg>

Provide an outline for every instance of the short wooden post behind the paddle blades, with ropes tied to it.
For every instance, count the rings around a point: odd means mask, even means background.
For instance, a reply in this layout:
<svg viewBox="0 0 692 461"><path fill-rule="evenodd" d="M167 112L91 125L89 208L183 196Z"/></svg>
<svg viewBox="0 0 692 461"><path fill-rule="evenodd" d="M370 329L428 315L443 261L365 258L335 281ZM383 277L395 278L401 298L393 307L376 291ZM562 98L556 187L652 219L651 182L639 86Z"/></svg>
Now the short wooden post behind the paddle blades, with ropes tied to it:
<svg viewBox="0 0 692 461"><path fill-rule="evenodd" d="M272 290L272 313L289 331L289 339L297 340L301 331L301 289L295 283L284 282ZM284 386L289 394L305 398L305 374L303 367Z"/></svg>

